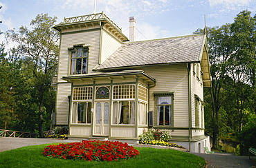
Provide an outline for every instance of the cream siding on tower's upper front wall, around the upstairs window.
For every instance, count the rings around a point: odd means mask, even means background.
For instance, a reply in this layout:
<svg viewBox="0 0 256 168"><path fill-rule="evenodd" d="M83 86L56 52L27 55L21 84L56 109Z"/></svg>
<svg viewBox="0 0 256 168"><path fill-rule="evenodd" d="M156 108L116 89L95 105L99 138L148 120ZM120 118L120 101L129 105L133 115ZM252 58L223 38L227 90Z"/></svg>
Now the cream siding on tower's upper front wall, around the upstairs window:
<svg viewBox="0 0 256 168"><path fill-rule="evenodd" d="M73 47L75 44L84 44L89 46L89 73L92 72L95 65L98 65L100 54L100 30L62 34L62 41L60 43L59 70L57 76L57 82L59 83L66 82L61 80L62 76L69 75L70 56L68 53L68 48Z"/></svg>

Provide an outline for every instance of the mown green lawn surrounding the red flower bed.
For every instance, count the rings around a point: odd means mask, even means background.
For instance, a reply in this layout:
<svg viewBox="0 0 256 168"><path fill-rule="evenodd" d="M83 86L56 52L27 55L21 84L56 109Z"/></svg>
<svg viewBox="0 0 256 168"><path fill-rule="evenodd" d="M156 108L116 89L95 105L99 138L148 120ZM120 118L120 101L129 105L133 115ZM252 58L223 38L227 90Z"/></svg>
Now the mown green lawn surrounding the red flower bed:
<svg viewBox="0 0 256 168"><path fill-rule="evenodd" d="M48 144L49 145L49 144ZM173 149L136 147L140 155L120 161L84 161L48 158L41 153L47 145L21 147L0 152L0 167L204 167L205 160L199 156Z"/></svg>

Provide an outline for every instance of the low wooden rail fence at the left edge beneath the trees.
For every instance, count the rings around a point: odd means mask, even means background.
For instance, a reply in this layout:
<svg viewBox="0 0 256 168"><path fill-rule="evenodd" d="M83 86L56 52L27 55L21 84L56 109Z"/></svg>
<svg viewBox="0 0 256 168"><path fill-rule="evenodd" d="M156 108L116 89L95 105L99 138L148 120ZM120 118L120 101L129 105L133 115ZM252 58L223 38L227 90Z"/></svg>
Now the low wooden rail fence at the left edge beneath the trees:
<svg viewBox="0 0 256 168"><path fill-rule="evenodd" d="M44 137L47 137L49 134L51 134L51 131L44 132ZM31 132L18 132L18 131L0 129L0 137L38 138L39 134L31 133Z"/></svg>

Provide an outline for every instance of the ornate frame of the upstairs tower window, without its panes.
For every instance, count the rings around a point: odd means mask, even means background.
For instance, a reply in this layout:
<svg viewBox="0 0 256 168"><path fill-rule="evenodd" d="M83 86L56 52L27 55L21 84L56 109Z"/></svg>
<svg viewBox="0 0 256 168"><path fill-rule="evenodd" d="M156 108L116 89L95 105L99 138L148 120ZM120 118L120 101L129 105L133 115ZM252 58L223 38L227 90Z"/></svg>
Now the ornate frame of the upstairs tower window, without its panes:
<svg viewBox="0 0 256 168"><path fill-rule="evenodd" d="M81 49L81 56L77 56L78 50ZM68 48L69 52L69 72L68 74L71 75L80 75L80 74L88 74L88 65L89 65L89 47L84 46L83 44L79 45L73 45L73 48ZM86 52L86 56L84 56L84 53ZM75 53L75 56L73 56L73 53ZM77 73L77 59L81 60L81 67L80 67L80 73ZM84 59L86 60L86 66L85 71L84 70ZM74 61L73 61L74 60ZM73 65L74 63L74 65Z"/></svg>

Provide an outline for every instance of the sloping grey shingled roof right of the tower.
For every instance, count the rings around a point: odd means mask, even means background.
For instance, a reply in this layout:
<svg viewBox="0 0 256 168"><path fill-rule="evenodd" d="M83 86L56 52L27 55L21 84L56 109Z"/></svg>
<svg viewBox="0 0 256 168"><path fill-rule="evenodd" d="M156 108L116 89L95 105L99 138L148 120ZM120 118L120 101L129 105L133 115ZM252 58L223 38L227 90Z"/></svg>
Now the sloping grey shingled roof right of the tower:
<svg viewBox="0 0 256 168"><path fill-rule="evenodd" d="M200 61L205 35L124 43L94 70L141 65L196 63Z"/></svg>

